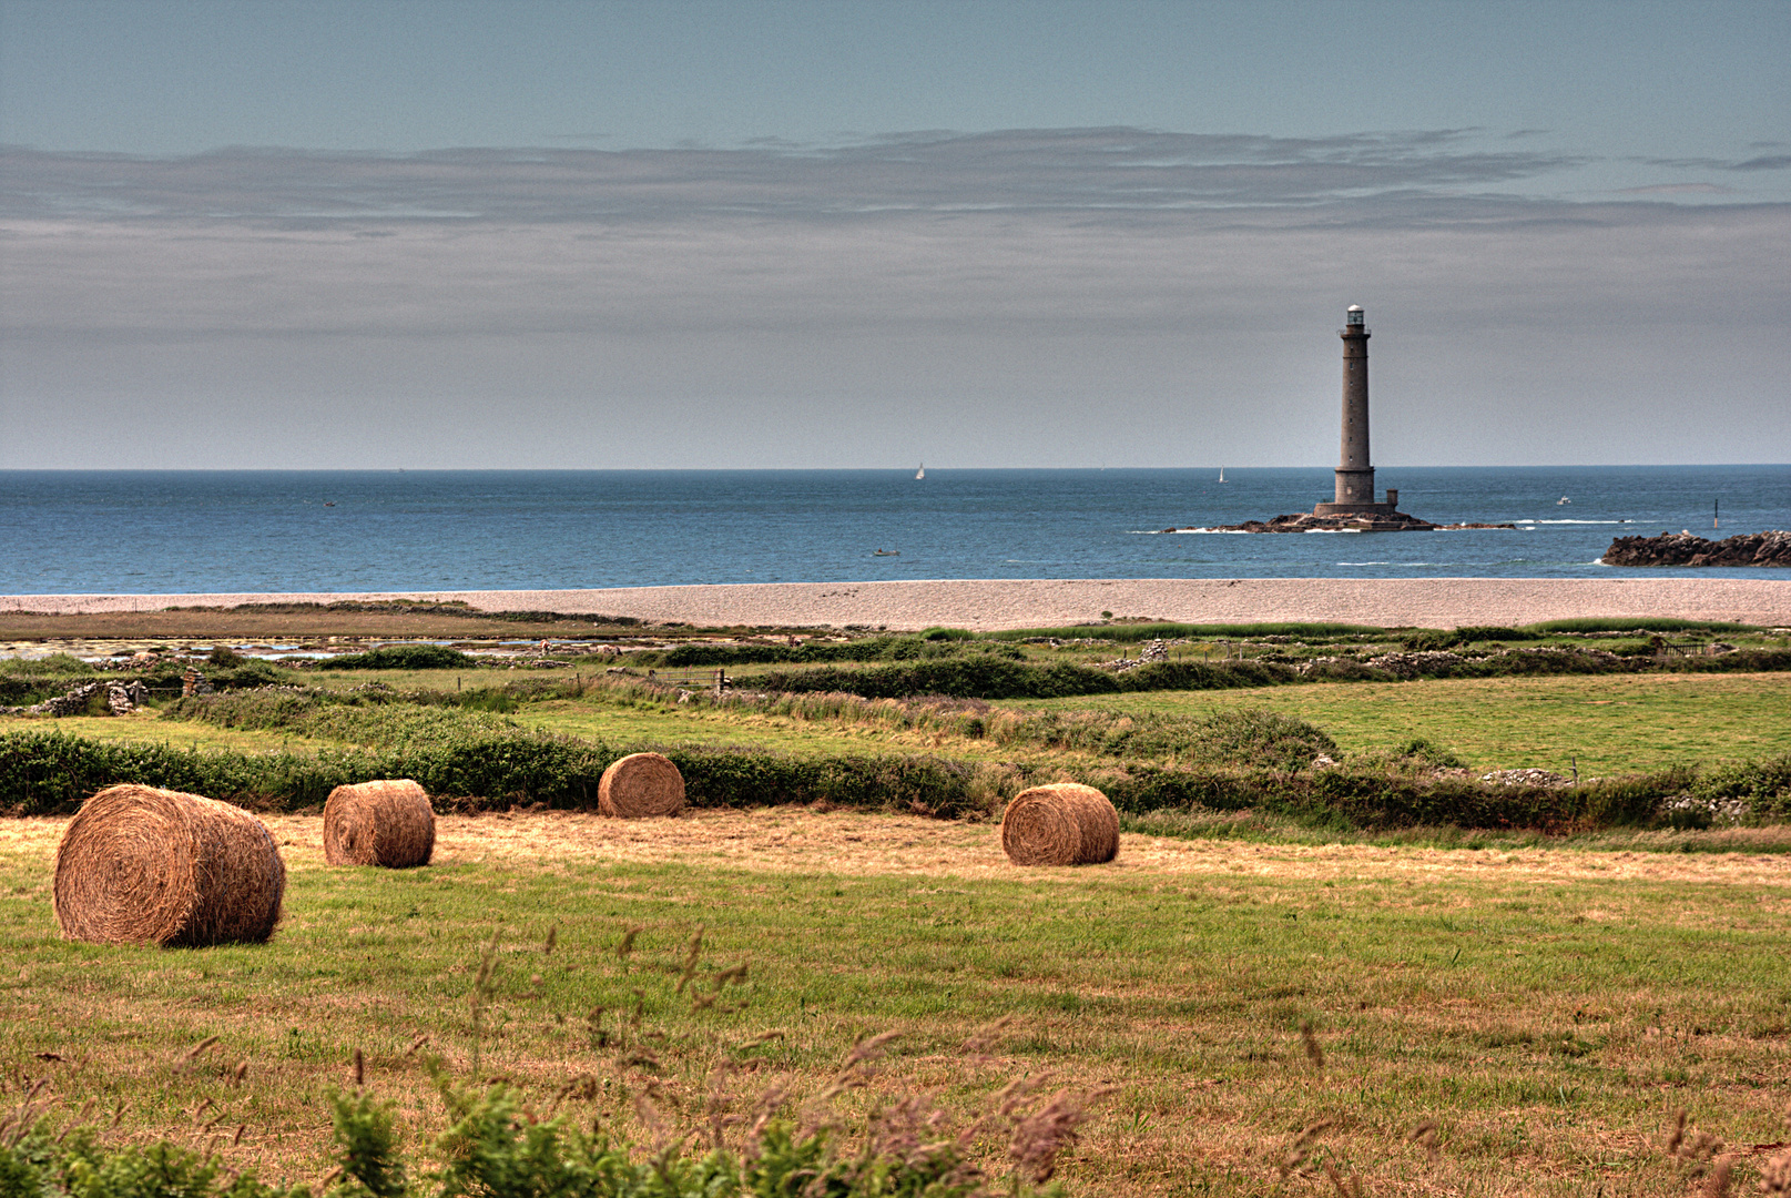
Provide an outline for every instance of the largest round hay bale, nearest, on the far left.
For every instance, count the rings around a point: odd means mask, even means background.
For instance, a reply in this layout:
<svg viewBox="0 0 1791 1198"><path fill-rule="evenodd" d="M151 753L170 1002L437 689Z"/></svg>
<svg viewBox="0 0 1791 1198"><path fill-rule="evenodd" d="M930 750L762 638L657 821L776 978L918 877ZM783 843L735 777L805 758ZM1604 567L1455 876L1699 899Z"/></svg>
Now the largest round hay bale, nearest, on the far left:
<svg viewBox="0 0 1791 1198"><path fill-rule="evenodd" d="M70 940L260 942L285 892L287 865L261 820L177 790L107 786L56 849L56 922Z"/></svg>

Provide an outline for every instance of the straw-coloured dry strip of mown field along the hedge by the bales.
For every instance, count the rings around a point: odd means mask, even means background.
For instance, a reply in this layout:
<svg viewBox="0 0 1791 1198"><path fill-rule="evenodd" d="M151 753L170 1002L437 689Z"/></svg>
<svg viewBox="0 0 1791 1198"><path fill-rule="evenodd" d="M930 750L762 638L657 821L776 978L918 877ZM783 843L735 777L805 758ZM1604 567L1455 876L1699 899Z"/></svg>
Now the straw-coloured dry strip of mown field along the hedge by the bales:
<svg viewBox="0 0 1791 1198"><path fill-rule="evenodd" d="M328 869L322 818L263 817L296 870ZM48 865L61 818L0 820L0 852L38 854ZM1592 852L1576 849L1381 849L1374 845L1263 845L1125 834L1110 865L1021 869L1001 852L996 824L906 815L761 808L691 811L675 820L607 820L595 813L446 815L435 863L544 860L688 861L724 869L804 874L1028 877L1250 874L1354 879L1499 874L1551 879L1709 881L1791 886L1791 858L1750 852Z"/></svg>

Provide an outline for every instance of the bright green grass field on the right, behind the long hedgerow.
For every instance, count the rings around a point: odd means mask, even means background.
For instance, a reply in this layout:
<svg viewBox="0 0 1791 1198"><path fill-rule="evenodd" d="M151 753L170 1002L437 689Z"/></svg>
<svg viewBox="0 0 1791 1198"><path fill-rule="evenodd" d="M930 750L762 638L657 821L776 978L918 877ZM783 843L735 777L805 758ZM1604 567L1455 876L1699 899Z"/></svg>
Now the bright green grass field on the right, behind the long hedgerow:
<svg viewBox="0 0 1791 1198"><path fill-rule="evenodd" d="M1177 715L1264 707L1322 727L1350 754L1426 738L1479 770L1565 774L1578 757L1581 775L1605 775L1791 752L1791 675L1784 673L1307 684L1005 706Z"/></svg>

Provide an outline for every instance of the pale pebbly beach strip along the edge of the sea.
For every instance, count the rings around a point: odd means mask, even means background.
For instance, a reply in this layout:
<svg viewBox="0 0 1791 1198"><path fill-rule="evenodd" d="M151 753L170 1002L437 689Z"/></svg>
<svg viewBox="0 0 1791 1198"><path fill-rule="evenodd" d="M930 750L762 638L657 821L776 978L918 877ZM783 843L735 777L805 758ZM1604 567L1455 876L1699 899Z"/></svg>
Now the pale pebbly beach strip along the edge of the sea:
<svg viewBox="0 0 1791 1198"><path fill-rule="evenodd" d="M335 600L464 602L695 625L998 630L1150 616L1186 623L1320 620L1379 627L1524 625L1576 616L1676 616L1791 625L1791 578L1023 578L758 582L604 591L353 595L0 595L0 611L118 612Z"/></svg>

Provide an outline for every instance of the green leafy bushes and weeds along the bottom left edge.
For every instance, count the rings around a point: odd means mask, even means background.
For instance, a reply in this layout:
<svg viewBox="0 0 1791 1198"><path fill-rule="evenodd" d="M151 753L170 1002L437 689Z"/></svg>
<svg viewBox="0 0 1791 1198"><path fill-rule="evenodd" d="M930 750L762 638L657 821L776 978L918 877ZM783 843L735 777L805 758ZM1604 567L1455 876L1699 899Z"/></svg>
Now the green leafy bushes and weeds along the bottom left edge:
<svg viewBox="0 0 1791 1198"><path fill-rule="evenodd" d="M940 1135L937 1117L926 1117L931 1112L924 1098L906 1098L887 1114L872 1116L858 1137L849 1139L831 1125L797 1128L786 1119L763 1119L738 1150L713 1142L695 1155L684 1150L693 1135L647 1151L600 1132L584 1132L570 1116L541 1117L518 1091L501 1083L476 1096L442 1083L442 1094L451 1125L433 1144L441 1166L423 1168L399 1153L390 1103L364 1092L331 1091L326 1098L337 1169L322 1184L321 1198L1060 1196L1060 1185L1039 1191L1033 1182L1050 1178L1057 1153L1075 1139L1082 1121L1076 1100L1057 1100L1050 1121L1010 1119L1015 1125L1010 1171L989 1177L965 1159L969 1134ZM310 1194L303 1184L267 1184L253 1171L238 1173L215 1155L168 1141L147 1148L113 1146L91 1126L54 1132L41 1117L18 1128L7 1123L0 1123L0 1194L9 1198ZM722 1126L715 1123L715 1139Z"/></svg>

